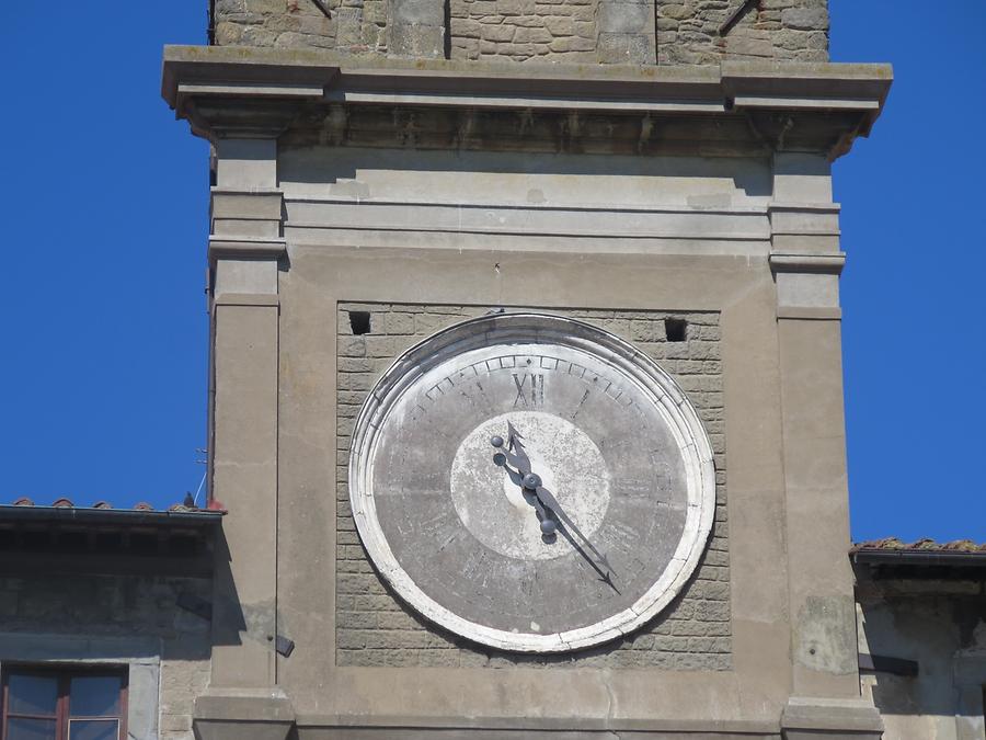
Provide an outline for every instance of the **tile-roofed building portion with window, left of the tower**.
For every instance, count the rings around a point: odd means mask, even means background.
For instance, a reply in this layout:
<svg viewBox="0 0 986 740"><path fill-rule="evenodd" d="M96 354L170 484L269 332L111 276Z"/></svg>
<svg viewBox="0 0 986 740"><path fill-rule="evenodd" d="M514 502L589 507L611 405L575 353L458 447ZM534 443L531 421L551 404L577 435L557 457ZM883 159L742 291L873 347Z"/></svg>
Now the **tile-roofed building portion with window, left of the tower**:
<svg viewBox="0 0 986 740"><path fill-rule="evenodd" d="M0 506L0 737L193 737L221 519L68 499Z"/></svg>

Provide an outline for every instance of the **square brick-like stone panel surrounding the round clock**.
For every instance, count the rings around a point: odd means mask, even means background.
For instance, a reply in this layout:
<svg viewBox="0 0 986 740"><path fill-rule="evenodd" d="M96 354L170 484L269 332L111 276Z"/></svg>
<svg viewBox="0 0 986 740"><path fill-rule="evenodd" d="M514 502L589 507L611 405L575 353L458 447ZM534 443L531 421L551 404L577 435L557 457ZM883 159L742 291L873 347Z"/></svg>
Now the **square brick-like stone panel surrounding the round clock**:
<svg viewBox="0 0 986 740"><path fill-rule="evenodd" d="M340 665L732 668L725 449L715 312L564 311L641 348L667 371L698 409L715 459L716 508L710 545L696 576L661 615L620 640L562 656L500 652L417 617L374 570L353 522L347 466L353 424L376 379L401 352L439 329L489 307L341 304L339 307L339 437L336 478L336 662ZM349 311L366 311L370 331L353 335ZM669 342L665 319L687 321L685 341Z"/></svg>

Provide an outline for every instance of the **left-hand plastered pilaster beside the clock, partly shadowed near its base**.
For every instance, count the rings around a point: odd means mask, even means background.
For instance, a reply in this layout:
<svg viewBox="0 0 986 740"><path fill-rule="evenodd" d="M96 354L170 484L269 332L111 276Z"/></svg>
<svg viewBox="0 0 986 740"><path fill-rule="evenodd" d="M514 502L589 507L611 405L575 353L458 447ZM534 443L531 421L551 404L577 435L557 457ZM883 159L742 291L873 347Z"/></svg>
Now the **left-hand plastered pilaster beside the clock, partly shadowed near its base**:
<svg viewBox="0 0 986 740"><path fill-rule="evenodd" d="M277 687L278 264L282 194L273 137L215 143L209 238L210 494L228 509L215 580L203 738L284 738L294 714Z"/></svg>

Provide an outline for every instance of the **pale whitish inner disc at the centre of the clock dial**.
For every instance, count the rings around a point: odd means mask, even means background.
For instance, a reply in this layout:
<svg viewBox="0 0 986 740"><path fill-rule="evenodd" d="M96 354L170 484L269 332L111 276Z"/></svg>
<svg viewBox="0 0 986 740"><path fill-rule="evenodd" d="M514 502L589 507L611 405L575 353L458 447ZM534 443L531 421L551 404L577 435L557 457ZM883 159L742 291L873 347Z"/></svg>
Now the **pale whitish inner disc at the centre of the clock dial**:
<svg viewBox="0 0 986 740"><path fill-rule="evenodd" d="M507 424L524 435L530 475L540 479L580 530L592 537L609 506L610 475L603 454L581 429L542 411L513 411L489 419L459 445L452 462L451 498L462 524L486 547L509 558L550 560L572 551L562 537L546 538L531 497L494 464L490 440L507 439Z"/></svg>

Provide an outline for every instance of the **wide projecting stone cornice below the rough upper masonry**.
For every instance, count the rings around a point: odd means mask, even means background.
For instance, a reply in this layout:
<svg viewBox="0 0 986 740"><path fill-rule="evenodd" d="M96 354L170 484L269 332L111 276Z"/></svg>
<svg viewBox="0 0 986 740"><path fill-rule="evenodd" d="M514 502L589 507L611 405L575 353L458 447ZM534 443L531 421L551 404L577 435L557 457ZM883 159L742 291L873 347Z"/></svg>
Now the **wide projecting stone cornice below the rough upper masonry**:
<svg viewBox="0 0 986 740"><path fill-rule="evenodd" d="M210 139L835 158L869 133L892 77L886 65L521 68L169 46L162 94Z"/></svg>

